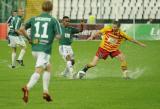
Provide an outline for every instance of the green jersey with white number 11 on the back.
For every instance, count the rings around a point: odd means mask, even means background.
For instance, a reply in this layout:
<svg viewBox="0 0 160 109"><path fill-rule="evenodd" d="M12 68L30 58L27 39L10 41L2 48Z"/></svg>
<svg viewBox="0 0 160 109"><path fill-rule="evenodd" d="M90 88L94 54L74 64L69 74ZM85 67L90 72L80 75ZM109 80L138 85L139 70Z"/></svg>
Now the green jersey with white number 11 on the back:
<svg viewBox="0 0 160 109"><path fill-rule="evenodd" d="M31 18L25 28L31 28L32 51L51 54L54 37L61 34L59 22L49 13L42 13Z"/></svg>

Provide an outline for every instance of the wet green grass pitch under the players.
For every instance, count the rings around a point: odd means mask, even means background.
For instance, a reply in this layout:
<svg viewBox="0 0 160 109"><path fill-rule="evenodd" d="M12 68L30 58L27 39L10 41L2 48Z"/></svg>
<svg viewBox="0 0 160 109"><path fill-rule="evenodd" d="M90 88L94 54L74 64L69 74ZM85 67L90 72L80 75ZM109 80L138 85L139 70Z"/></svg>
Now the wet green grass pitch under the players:
<svg viewBox="0 0 160 109"><path fill-rule="evenodd" d="M54 101L42 99L42 80L30 91L29 103L22 101L21 87L34 71L30 45L24 57L25 67L8 68L11 50L7 42L0 41L0 108L1 109L159 109L160 108L160 41L144 41L139 47L124 43L121 50L126 55L129 69L141 75L132 80L121 78L119 62L108 58L100 60L88 71L84 80L59 77L64 61L58 53L58 43L53 46L50 92ZM75 70L80 70L92 60L99 42L75 41Z"/></svg>

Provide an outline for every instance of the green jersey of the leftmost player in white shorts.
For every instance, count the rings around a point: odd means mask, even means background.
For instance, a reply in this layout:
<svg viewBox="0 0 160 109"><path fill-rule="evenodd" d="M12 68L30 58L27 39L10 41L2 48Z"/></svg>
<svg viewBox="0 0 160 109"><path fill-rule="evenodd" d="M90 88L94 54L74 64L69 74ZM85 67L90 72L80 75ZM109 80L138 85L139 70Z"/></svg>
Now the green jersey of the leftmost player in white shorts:
<svg viewBox="0 0 160 109"><path fill-rule="evenodd" d="M12 21L10 23L10 30L9 30L9 35L11 36L18 36L19 34L15 32L15 30L18 30L21 27L22 23L22 17L21 16L15 16L12 18Z"/></svg>

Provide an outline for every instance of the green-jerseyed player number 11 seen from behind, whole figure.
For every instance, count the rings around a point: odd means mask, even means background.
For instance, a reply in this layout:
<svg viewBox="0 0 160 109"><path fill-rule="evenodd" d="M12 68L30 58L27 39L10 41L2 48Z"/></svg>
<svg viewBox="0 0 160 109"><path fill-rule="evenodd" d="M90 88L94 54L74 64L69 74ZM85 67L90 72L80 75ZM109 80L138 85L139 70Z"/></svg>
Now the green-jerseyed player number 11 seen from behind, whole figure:
<svg viewBox="0 0 160 109"><path fill-rule="evenodd" d="M59 22L50 15L52 8L53 3L51 1L44 1L42 4L43 12L39 16L29 19L21 28L21 32L28 39L26 30L31 28L30 42L32 54L36 59L35 71L29 82L22 88L23 101L26 103L28 102L29 90L37 83L41 73L43 73L43 99L48 102L52 101L48 90L51 75L50 56L54 38L57 36L60 38L61 35Z"/></svg>

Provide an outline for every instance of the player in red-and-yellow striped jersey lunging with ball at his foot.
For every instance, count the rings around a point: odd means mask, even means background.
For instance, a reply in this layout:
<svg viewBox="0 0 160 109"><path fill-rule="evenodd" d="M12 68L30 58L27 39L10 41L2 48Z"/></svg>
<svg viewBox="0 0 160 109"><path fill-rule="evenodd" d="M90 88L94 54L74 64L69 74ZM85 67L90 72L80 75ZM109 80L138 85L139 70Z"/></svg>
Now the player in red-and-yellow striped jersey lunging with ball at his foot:
<svg viewBox="0 0 160 109"><path fill-rule="evenodd" d="M105 60L108 56L110 56L111 58L115 57L120 61L123 78L129 79L125 55L119 50L119 46L124 40L128 40L142 47L145 47L146 45L133 39L132 37L129 37L123 31L121 31L120 23L118 21L114 21L112 26L104 27L93 36L89 37L88 40L92 40L100 35L103 37L96 55L89 64L87 64L81 71L77 73L78 78L83 78L89 68L96 66L99 59Z"/></svg>

